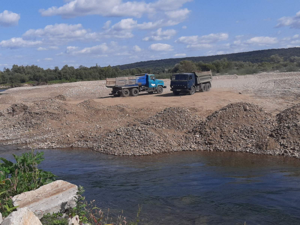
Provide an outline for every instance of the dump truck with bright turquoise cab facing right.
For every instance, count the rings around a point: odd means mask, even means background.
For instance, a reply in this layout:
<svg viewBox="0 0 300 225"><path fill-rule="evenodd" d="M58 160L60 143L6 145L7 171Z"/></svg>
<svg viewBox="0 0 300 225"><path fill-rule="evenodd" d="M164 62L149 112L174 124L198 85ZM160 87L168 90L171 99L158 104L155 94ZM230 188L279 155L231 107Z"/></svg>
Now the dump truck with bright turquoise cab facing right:
<svg viewBox="0 0 300 225"><path fill-rule="evenodd" d="M106 86L113 88L110 95L128 97L138 96L140 92L146 91L149 94L154 92L157 94L163 93L167 86L164 86L163 80L155 78L154 74L142 73L129 77L107 78Z"/></svg>

